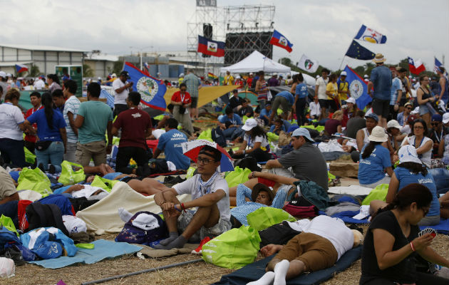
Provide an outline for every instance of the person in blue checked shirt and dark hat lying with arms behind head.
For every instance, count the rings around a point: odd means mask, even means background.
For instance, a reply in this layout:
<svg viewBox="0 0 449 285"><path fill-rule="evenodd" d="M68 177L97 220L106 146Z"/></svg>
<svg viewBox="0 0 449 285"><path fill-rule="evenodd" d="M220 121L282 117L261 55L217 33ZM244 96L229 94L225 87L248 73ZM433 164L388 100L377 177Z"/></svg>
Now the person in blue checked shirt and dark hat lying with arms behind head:
<svg viewBox="0 0 449 285"><path fill-rule="evenodd" d="M247 215L260 207L284 207L287 191L278 189L276 195L267 185L257 183L252 190L243 184L237 186L237 207L231 209L232 227L248 226ZM247 199L251 199L247 201Z"/></svg>

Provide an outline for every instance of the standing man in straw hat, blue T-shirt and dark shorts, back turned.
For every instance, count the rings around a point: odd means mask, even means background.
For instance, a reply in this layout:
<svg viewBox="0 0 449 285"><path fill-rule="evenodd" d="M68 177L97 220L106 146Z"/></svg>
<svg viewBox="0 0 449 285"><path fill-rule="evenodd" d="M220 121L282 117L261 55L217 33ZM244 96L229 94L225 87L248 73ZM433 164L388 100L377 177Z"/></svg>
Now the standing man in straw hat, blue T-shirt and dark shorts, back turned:
<svg viewBox="0 0 449 285"><path fill-rule="evenodd" d="M373 61L376 63L376 67L371 71L368 95L373 98L373 112L379 117L378 125L386 128L388 113L390 113L391 71L383 65L386 58L382 53L377 53Z"/></svg>

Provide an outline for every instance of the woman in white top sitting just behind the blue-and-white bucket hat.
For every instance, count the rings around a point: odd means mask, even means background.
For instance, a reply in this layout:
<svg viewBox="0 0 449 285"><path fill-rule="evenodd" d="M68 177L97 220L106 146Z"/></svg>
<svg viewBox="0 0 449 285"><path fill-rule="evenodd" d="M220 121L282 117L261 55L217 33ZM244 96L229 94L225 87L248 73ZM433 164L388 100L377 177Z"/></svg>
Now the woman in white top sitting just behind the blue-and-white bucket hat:
<svg viewBox="0 0 449 285"><path fill-rule="evenodd" d="M416 119L412 123L411 136L406 138L403 145L413 145L416 148L419 159L430 168L432 160L433 140L426 137L427 124L423 119Z"/></svg>

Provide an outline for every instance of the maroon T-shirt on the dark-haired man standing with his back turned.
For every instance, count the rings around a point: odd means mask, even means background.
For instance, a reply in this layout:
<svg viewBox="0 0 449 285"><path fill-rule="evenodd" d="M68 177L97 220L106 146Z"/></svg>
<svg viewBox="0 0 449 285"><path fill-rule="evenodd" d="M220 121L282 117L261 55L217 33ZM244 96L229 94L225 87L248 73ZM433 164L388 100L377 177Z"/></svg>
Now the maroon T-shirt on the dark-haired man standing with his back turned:
<svg viewBox="0 0 449 285"><path fill-rule="evenodd" d="M148 113L138 108L130 108L118 115L113 126L122 129L118 147L141 147L146 150L145 132L152 128Z"/></svg>

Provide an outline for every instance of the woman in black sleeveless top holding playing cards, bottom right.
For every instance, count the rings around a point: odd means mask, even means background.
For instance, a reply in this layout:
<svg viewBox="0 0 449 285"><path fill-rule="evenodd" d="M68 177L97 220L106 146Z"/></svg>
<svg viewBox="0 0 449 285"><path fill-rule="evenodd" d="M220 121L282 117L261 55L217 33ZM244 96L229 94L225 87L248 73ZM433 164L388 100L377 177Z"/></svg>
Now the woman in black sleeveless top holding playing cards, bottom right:
<svg viewBox="0 0 449 285"><path fill-rule="evenodd" d="M416 270L417 254L431 263L449 266L448 259L430 248L432 234L418 237L418 222L428 213L432 200L427 187L412 183L374 214L363 242L359 284L448 284L447 279Z"/></svg>

